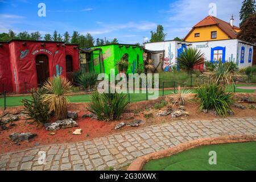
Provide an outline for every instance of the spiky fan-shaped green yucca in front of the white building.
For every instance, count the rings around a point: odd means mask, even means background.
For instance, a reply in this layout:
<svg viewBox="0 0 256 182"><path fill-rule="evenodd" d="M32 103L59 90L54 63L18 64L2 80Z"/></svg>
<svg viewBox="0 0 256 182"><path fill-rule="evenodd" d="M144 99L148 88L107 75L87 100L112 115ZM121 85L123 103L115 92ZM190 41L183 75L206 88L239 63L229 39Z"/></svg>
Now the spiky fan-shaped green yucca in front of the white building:
<svg viewBox="0 0 256 182"><path fill-rule="evenodd" d="M181 69L188 73L193 71L195 65L203 64L205 60L204 53L197 48L184 49L180 56L177 57L177 64Z"/></svg>

